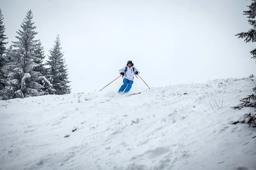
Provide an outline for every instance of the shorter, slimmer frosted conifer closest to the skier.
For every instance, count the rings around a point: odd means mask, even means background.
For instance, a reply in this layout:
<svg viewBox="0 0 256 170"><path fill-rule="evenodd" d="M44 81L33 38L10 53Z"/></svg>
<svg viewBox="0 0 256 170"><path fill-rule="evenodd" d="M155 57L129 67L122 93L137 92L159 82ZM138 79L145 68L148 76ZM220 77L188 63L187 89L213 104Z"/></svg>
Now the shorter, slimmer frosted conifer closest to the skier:
<svg viewBox="0 0 256 170"><path fill-rule="evenodd" d="M71 88L70 85L67 85L70 81L67 80L67 65L65 64L66 61L64 59L64 54L61 52L62 47L59 35L57 35L54 42L55 45L53 45L53 48L49 50L50 56L49 60L47 60L47 65L50 66L48 77L53 88L56 90L55 94L70 94Z"/></svg>

